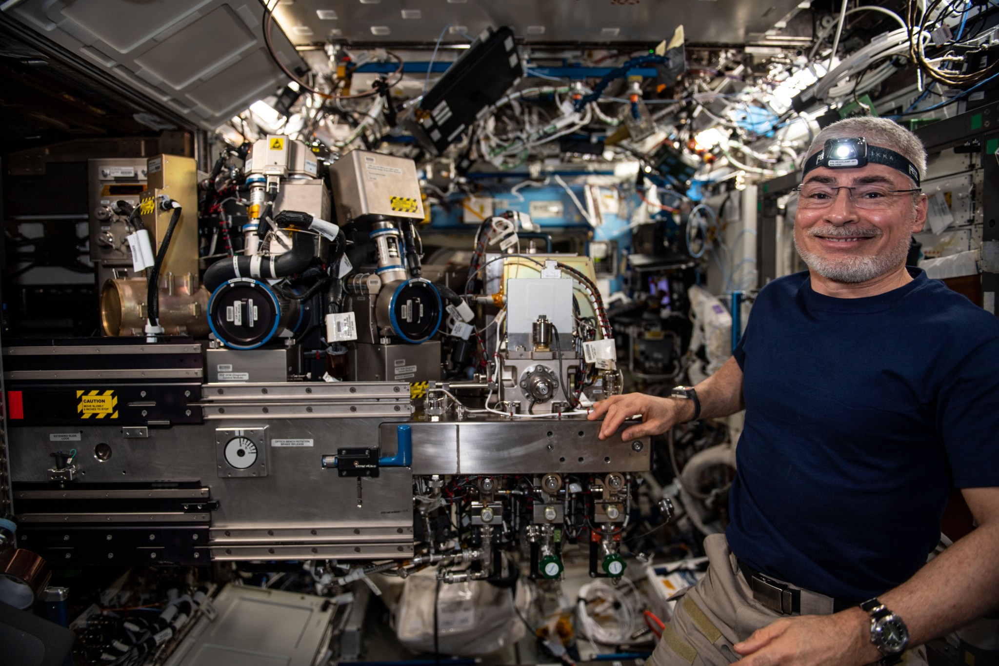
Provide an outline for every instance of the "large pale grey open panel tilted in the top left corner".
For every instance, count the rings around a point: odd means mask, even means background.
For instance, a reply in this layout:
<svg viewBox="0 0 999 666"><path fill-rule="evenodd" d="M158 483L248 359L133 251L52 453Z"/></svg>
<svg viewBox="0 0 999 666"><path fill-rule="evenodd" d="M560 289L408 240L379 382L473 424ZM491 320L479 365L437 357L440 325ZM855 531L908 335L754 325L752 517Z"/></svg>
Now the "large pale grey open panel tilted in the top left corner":
<svg viewBox="0 0 999 666"><path fill-rule="evenodd" d="M263 12L260 0L24 0L6 14L212 129L288 80L264 45ZM283 62L303 65L272 34Z"/></svg>

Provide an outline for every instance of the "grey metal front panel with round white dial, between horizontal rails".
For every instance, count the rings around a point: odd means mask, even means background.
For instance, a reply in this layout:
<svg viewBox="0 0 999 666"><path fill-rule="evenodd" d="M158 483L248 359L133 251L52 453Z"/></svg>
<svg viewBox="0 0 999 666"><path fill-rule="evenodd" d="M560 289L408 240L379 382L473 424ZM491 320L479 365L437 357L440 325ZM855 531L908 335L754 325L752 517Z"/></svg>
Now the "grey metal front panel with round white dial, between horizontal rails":
<svg viewBox="0 0 999 666"><path fill-rule="evenodd" d="M211 488L218 509L212 527L229 529L365 529L372 525L408 529L413 526L413 475L405 467L388 467L379 478L363 481L362 507L357 506L357 480L340 478L334 469L323 469L321 456L338 446L378 444L379 426L402 418L243 418L227 426L268 428L270 442L277 439L312 440L312 446L271 446L270 472L266 477L219 478L216 426L174 425L150 428L148 439L127 439L121 428L95 425L81 428L75 459L77 480L71 490L88 489L89 483L156 483L193 481ZM52 454L65 450L65 442L49 441L48 427L14 427L9 431L11 478L19 482L47 482ZM99 462L91 454L104 442L111 457ZM391 453L388 451L387 453ZM127 499L122 500L127 506ZM15 507L16 508L16 507Z"/></svg>

